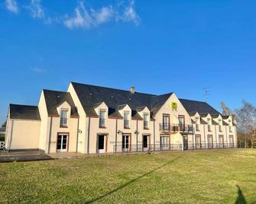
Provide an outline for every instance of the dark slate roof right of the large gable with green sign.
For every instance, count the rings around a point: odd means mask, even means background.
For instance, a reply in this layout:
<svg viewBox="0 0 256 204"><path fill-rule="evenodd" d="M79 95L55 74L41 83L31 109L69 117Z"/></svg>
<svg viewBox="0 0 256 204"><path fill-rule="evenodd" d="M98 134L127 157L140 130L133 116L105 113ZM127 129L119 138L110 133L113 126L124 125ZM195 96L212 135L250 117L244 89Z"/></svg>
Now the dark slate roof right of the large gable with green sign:
<svg viewBox="0 0 256 204"><path fill-rule="evenodd" d="M198 112L200 115L206 113L210 113L210 115L220 114L217 110L203 101L180 99L180 102L188 113Z"/></svg>

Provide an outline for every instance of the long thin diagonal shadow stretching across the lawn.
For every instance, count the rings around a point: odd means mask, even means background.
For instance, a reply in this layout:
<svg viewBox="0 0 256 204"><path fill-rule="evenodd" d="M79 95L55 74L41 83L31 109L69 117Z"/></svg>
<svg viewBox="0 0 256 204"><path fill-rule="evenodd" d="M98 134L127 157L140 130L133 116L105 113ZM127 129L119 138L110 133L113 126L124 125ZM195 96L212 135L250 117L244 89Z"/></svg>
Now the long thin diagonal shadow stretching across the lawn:
<svg viewBox="0 0 256 204"><path fill-rule="evenodd" d="M124 183L122 186L118 186L115 190L112 190L112 191L110 191L109 193L105 193L104 195L99 196L99 197L97 197L97 198L95 198L95 199L91 199L91 200L89 200L89 201L87 201L87 202L85 202L85 203L96 202L96 201L98 201L99 199L104 198L105 196L109 196L109 195L111 195L112 193L115 193L115 192L117 192L118 190L121 190L122 188L125 188L125 187L128 186L129 184L134 183L135 181L141 179L142 177L147 177L149 174L152 174L154 171L157 171L157 170L159 170L160 168L165 167L165 166L167 166L168 164L173 163L174 161L177 161L177 160L178 160L179 158L181 158L181 157L183 157L183 156L180 156L180 157L177 157L177 158L175 158L175 159L173 159L173 160L171 160L171 161L168 161L167 163L165 163L165 164L163 164L163 165L160 165L160 167L157 167L157 168L155 168L155 169L152 170L152 171L148 171L146 174L143 174L143 175L141 175L140 177L134 178L133 180L130 180L128 183Z"/></svg>

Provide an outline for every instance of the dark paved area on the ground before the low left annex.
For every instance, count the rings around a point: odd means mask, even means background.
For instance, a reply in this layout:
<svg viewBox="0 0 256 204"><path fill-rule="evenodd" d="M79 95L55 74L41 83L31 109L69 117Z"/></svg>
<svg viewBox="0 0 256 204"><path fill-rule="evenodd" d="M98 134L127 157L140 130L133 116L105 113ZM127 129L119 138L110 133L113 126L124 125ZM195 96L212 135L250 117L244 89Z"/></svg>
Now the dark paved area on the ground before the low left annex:
<svg viewBox="0 0 256 204"><path fill-rule="evenodd" d="M50 160L48 155L41 154L39 151L0 151L0 163L12 161L42 161Z"/></svg>

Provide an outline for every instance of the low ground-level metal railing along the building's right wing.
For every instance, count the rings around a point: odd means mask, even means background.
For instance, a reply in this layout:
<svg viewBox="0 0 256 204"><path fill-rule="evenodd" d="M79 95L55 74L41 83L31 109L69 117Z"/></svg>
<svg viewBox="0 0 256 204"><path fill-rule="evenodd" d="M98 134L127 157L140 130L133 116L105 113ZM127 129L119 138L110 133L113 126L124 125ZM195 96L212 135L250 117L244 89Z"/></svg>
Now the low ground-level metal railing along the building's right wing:
<svg viewBox="0 0 256 204"><path fill-rule="evenodd" d="M195 143L189 143L183 145L184 150L196 150L196 149L212 149L212 148L237 148L237 145L235 143L205 143L202 142L201 144L195 144Z"/></svg>

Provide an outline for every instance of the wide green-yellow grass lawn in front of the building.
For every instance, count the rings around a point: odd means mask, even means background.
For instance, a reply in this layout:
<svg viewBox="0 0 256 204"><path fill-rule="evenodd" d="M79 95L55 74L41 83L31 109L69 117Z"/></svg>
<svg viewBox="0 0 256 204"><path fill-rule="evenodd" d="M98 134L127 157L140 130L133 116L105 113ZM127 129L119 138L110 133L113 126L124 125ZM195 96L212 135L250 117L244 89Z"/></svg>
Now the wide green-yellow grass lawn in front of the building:
<svg viewBox="0 0 256 204"><path fill-rule="evenodd" d="M0 164L0 202L256 203L256 151Z"/></svg>

